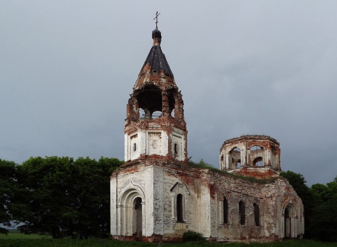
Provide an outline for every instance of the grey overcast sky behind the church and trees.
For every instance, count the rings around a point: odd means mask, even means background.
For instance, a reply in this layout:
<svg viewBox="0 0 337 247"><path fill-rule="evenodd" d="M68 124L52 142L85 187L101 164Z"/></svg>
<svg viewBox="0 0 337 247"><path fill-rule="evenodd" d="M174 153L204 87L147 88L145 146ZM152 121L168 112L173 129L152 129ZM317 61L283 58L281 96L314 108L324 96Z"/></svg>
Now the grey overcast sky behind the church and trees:
<svg viewBox="0 0 337 247"><path fill-rule="evenodd" d="M337 1L0 1L0 158L124 159L152 46L182 91L188 156L270 135L308 185L337 175Z"/></svg>

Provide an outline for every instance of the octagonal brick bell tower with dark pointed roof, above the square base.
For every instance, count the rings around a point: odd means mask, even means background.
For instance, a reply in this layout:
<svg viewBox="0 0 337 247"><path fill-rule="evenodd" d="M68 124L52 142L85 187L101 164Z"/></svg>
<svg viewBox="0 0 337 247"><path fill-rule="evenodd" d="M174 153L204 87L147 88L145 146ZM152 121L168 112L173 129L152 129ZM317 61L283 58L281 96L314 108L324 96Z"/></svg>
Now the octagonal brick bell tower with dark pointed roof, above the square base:
<svg viewBox="0 0 337 247"><path fill-rule="evenodd" d="M184 102L161 50L157 27L152 39L126 107L125 165L151 158L187 164Z"/></svg>

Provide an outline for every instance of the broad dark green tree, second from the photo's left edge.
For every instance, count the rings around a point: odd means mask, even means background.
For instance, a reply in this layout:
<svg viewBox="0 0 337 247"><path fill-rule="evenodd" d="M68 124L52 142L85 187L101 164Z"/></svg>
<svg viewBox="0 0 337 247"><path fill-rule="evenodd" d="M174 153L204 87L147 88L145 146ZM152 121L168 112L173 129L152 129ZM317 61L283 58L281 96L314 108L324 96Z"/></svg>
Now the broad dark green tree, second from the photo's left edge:
<svg viewBox="0 0 337 247"><path fill-rule="evenodd" d="M78 169L72 158L31 157L18 166L18 183L21 198L14 203L26 205L24 213L16 211L16 218L24 225L24 233L51 234L53 238L64 236L77 212L69 204ZM75 176L74 176L75 175Z"/></svg>

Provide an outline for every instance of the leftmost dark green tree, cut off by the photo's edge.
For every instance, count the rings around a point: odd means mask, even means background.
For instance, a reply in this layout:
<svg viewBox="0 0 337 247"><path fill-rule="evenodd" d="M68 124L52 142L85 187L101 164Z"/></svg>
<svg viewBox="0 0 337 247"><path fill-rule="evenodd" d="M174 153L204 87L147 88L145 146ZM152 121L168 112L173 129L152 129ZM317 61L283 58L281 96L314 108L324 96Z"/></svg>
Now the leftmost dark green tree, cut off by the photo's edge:
<svg viewBox="0 0 337 247"><path fill-rule="evenodd" d="M12 161L0 159L0 233L7 234L7 228L11 226L9 206L13 197L13 187L16 186L15 166Z"/></svg>

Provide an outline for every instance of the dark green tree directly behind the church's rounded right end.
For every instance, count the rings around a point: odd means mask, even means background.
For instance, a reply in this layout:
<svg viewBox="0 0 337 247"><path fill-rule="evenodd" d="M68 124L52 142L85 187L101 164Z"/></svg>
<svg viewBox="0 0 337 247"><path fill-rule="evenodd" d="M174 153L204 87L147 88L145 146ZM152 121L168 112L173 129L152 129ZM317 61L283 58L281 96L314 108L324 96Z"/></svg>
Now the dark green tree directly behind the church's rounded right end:
<svg viewBox="0 0 337 247"><path fill-rule="evenodd" d="M304 237L310 238L311 235L311 215L315 204L313 203L314 196L309 187L306 185L306 180L300 173L292 171L282 171L280 173L282 177L288 179L289 183L295 189L297 195L301 198L304 205Z"/></svg>

